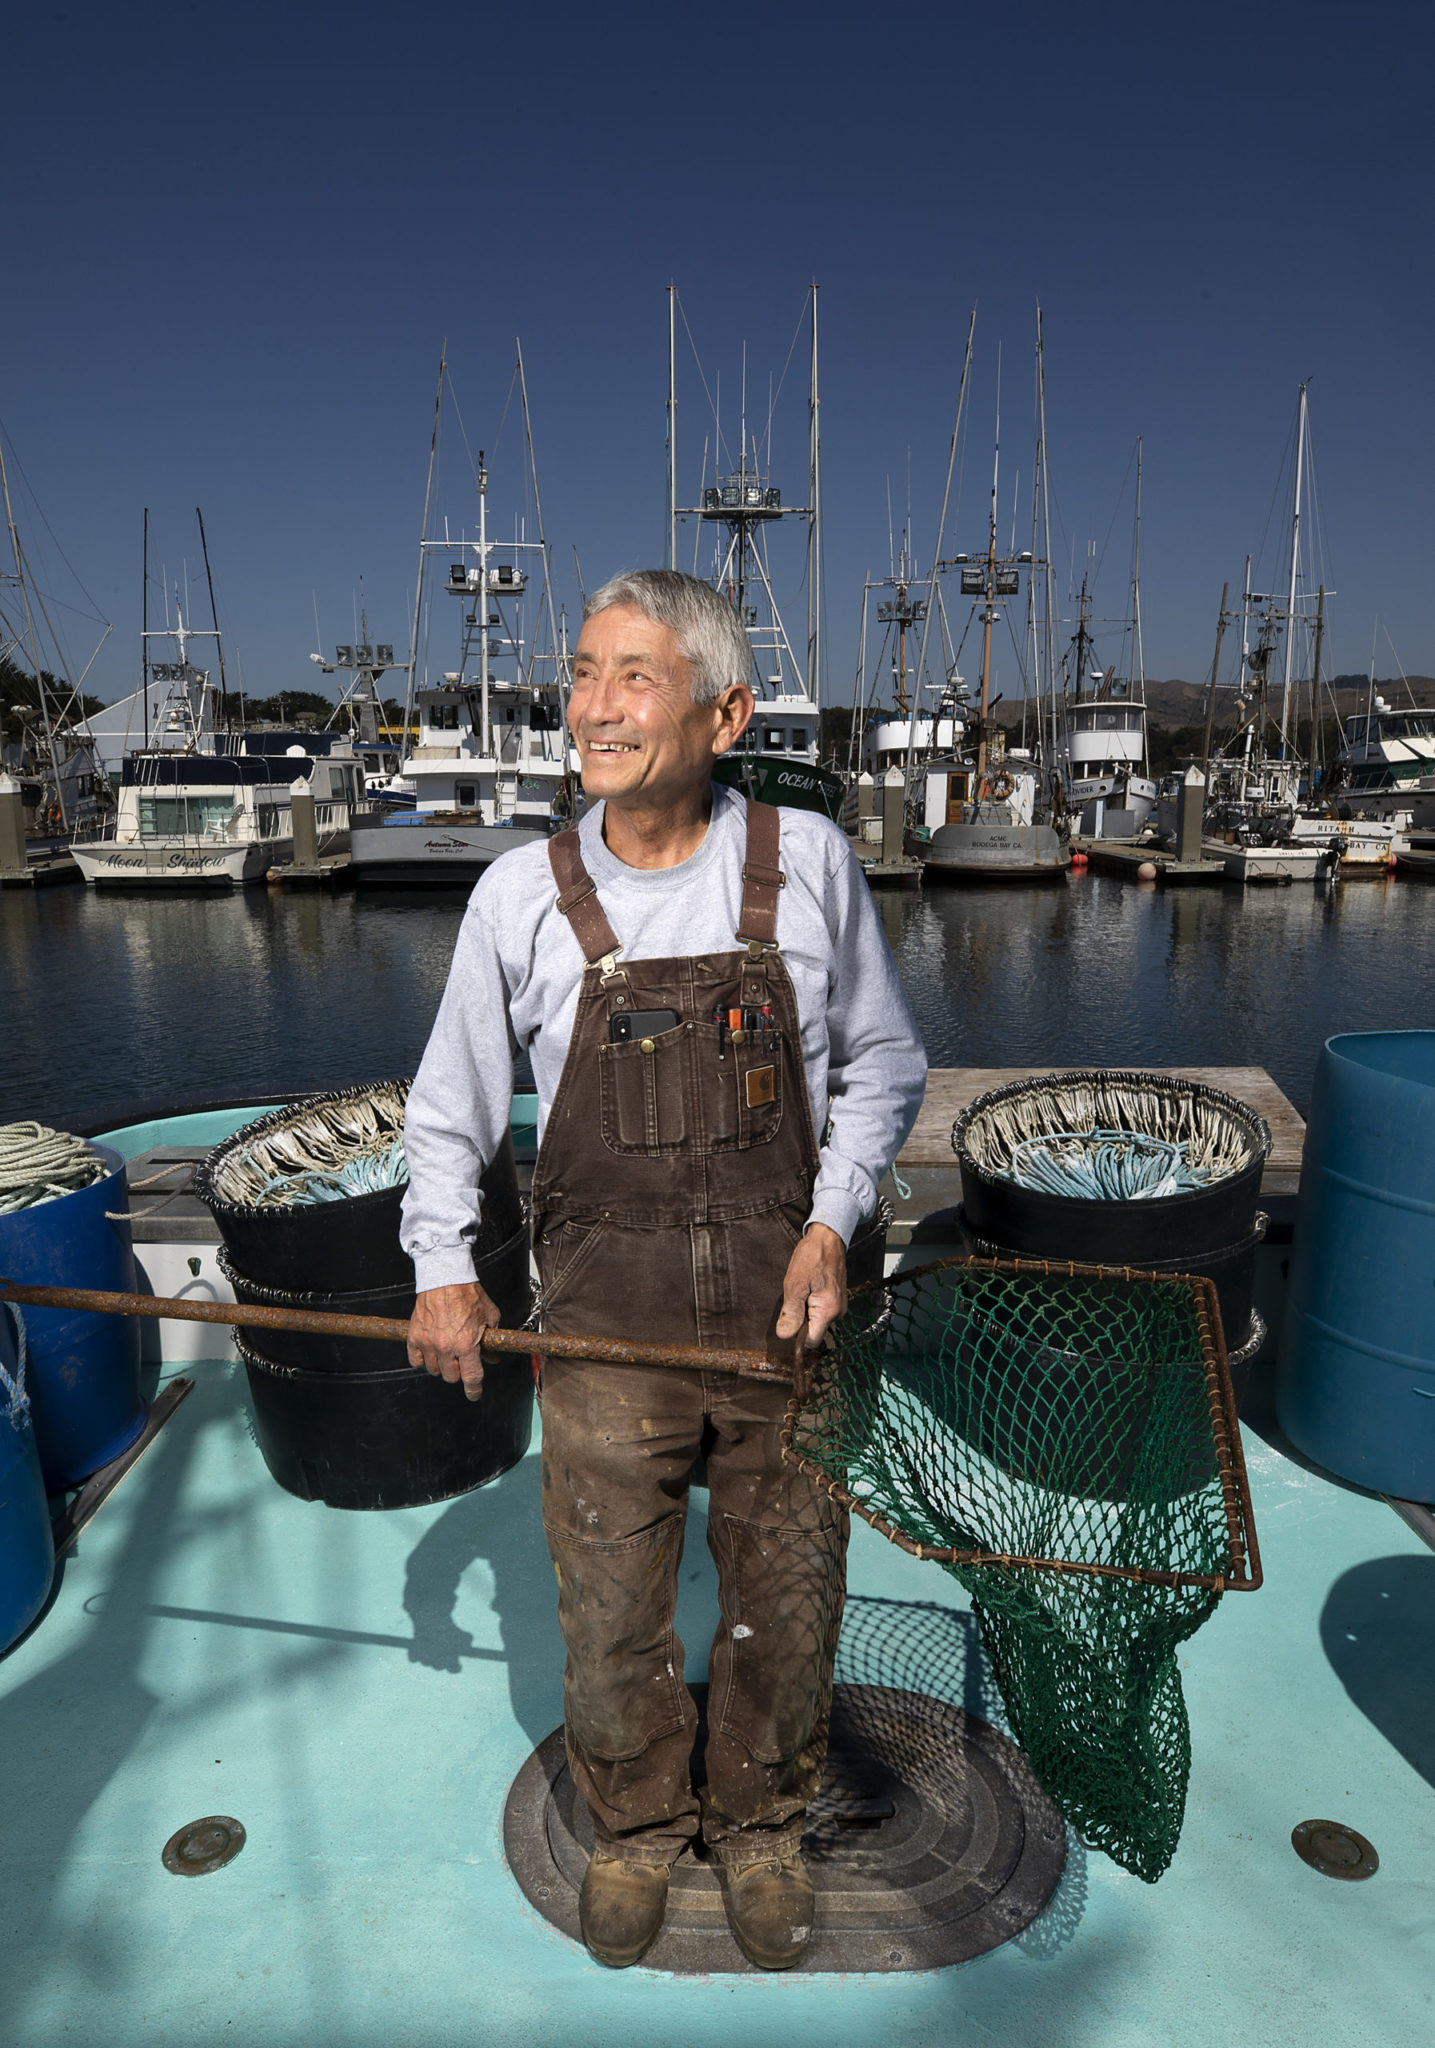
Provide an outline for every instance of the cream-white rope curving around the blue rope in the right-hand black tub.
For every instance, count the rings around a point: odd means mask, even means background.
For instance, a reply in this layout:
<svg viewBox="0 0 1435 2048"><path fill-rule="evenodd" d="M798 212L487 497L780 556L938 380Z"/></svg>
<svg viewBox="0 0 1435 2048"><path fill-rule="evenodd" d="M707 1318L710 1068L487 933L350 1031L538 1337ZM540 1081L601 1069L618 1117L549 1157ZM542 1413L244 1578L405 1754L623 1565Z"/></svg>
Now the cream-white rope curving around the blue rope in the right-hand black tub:
<svg viewBox="0 0 1435 2048"><path fill-rule="evenodd" d="M979 1167L1013 1180L1017 1147L1030 1139L1089 1139L1095 1133L1175 1147L1185 1171L1200 1176L1185 1184L1191 1188L1238 1174L1255 1155L1249 1128L1228 1106L1181 1087L1142 1085L1110 1073L1052 1079L1050 1085L991 1102L968 1122L964 1143Z"/></svg>

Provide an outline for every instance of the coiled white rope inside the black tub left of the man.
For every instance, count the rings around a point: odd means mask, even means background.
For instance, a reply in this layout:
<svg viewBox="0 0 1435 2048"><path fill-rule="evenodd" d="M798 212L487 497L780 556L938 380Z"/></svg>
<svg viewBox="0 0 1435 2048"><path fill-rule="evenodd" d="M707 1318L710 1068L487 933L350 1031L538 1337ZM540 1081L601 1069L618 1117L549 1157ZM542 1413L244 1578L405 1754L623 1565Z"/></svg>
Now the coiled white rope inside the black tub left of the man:
<svg viewBox="0 0 1435 2048"><path fill-rule="evenodd" d="M301 1110L278 1130L237 1145L215 1171L215 1194L235 1208L295 1208L401 1188L409 1178L405 1096L405 1087L387 1085Z"/></svg>

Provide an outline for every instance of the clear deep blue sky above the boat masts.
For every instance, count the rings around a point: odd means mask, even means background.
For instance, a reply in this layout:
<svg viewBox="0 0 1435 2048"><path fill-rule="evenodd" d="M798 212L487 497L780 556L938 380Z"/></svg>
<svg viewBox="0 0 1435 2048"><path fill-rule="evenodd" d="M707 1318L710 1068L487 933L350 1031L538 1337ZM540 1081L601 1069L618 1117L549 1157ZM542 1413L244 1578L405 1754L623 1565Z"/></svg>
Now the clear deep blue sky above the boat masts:
<svg viewBox="0 0 1435 2048"><path fill-rule="evenodd" d="M1204 674L1222 580L1275 547L1302 377L1339 592L1327 666L1363 668L1378 614L1402 666L1435 672L1425 4L61 0L4 47L0 418L115 623L102 696L137 680L145 504L170 582L201 573L203 506L252 692L311 682L315 596L325 643L348 639L360 573L375 635L407 641L444 336L499 524L524 483L516 401L504 420L522 336L569 604L573 549L590 586L661 559L669 279L725 426L743 342L766 414L821 283L833 698L909 463L931 547L972 305L948 543L983 539L999 344L1005 475L1030 479L1038 299L1054 551L1105 541L1105 610L1126 598L1144 436L1150 676ZM788 496L802 399L798 360L774 430ZM452 414L444 451L438 512L463 522ZM20 512L47 590L82 606ZM94 633L57 618L82 666Z"/></svg>

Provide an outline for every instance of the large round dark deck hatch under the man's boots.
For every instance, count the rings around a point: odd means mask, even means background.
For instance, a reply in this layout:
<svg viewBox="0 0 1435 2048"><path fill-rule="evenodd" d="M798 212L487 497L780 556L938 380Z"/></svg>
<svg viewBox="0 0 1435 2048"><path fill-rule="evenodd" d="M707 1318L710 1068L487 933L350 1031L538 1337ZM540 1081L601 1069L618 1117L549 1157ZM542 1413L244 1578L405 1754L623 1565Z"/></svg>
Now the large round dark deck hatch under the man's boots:
<svg viewBox="0 0 1435 2048"><path fill-rule="evenodd" d="M692 1696L702 1714L706 1686ZM510 1788L504 1849L528 1903L575 1942L592 1845L555 1729ZM800 1970L933 1970L970 1962L1036 1919L1060 1880L1067 1829L1021 1751L985 1720L921 1692L837 1686L802 1853L817 1931ZM673 1868L667 1919L643 1966L751 1970L702 1851Z"/></svg>

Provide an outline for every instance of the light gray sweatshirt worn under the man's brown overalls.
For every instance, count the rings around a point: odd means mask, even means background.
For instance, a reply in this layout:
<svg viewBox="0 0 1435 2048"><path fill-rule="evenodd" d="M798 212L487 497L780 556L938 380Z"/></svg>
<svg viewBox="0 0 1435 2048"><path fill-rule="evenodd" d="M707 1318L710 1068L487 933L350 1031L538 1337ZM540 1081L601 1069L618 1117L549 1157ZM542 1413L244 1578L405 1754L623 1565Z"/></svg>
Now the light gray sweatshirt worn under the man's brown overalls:
<svg viewBox="0 0 1435 2048"><path fill-rule="evenodd" d="M630 868L608 852L602 805L579 825L583 862L624 961L733 952L743 899L745 807L714 784L702 846L676 868ZM862 868L841 831L782 811L778 948L796 991L802 1063L821 1147L813 1214L843 1241L876 1206L876 1184L917 1120L927 1057ZM547 846L520 846L481 874L444 999L409 1094L403 1247L418 1286L473 1280L479 1174L508 1128L514 1053L528 1053L538 1135L563 1073L583 954L557 909ZM831 1116L831 1124L829 1124Z"/></svg>

